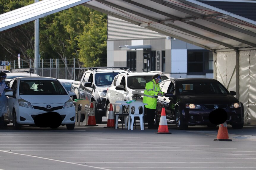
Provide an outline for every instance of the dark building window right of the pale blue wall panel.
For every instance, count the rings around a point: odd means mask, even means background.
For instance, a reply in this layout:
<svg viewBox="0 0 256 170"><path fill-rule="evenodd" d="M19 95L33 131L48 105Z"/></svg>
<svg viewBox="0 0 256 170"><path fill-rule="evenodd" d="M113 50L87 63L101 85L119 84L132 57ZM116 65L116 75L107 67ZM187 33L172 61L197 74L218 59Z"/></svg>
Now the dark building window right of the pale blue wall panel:
<svg viewBox="0 0 256 170"><path fill-rule="evenodd" d="M208 50L187 50L187 74L213 73L213 54Z"/></svg>

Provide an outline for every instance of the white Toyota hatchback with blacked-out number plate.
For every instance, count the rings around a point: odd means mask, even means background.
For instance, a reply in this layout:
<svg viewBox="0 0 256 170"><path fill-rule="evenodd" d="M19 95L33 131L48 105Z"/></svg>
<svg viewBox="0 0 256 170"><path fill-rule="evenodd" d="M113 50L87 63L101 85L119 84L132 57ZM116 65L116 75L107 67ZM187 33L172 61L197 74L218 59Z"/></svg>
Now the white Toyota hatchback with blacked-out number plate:
<svg viewBox="0 0 256 170"><path fill-rule="evenodd" d="M7 113L4 122L12 122L15 129L21 125L57 128L66 125L75 127L75 107L71 96L55 78L17 77L8 86L14 91L6 92Z"/></svg>

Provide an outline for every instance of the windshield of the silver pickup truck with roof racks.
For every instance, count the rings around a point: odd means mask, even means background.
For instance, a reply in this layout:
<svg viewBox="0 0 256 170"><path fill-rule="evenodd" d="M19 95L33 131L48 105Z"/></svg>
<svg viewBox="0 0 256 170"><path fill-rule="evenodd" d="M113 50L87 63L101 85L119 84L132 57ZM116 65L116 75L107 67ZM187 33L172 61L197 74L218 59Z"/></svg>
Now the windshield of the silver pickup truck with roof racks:
<svg viewBox="0 0 256 170"><path fill-rule="evenodd" d="M98 86L111 85L116 75L118 75L118 72L97 73L95 75L95 84Z"/></svg>

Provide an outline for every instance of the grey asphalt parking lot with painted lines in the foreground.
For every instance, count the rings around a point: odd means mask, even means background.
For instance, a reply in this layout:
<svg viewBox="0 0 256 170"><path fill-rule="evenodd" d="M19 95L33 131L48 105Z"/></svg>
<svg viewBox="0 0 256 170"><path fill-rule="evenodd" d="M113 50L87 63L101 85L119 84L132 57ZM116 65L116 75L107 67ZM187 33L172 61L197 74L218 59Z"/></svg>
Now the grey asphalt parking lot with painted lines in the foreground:
<svg viewBox="0 0 256 170"><path fill-rule="evenodd" d="M172 134L75 126L67 130L23 126L0 130L0 169L255 169L256 127L232 129L232 142L214 141L218 128L189 126Z"/></svg>

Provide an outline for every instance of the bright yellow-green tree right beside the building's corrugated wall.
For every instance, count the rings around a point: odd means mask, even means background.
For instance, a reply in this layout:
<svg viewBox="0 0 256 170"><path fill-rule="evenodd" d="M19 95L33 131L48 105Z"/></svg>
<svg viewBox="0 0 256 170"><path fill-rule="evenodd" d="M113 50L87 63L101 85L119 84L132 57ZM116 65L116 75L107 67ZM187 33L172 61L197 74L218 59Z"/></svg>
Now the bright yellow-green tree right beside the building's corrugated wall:
<svg viewBox="0 0 256 170"><path fill-rule="evenodd" d="M106 66L107 15L92 10L89 18L83 34L78 37L79 59L85 67Z"/></svg>

